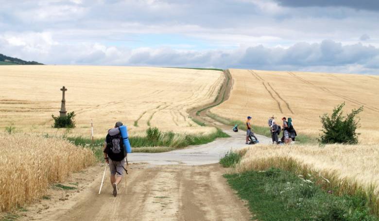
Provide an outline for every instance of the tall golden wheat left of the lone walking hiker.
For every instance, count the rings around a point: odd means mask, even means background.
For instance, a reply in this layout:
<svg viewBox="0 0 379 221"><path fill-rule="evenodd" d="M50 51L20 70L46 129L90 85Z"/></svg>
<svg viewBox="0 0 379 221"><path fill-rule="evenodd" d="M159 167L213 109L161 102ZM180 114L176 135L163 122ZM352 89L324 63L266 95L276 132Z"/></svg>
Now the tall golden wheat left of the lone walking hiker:
<svg viewBox="0 0 379 221"><path fill-rule="evenodd" d="M41 198L50 182L92 165L92 152L64 139L0 133L0 212Z"/></svg>

